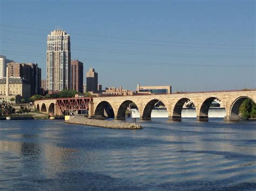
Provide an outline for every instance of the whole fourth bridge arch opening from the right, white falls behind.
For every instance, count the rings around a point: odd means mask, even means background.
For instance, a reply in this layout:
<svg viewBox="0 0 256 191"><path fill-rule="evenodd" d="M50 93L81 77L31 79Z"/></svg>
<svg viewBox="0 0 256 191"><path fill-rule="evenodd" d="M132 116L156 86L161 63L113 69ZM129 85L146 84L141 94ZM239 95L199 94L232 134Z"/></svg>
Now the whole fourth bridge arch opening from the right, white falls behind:
<svg viewBox="0 0 256 191"><path fill-rule="evenodd" d="M140 119L142 120L151 120L151 114L152 114L152 110L154 109L154 111L156 111L154 114L156 116L154 117L167 117L167 113L166 112L166 107L165 107L165 104L160 101L160 100L157 100L157 99L153 99L151 101L149 101L144 110L143 110L143 115L140 117ZM165 113L166 113L166 116L165 116ZM157 116L158 115L158 116Z"/></svg>

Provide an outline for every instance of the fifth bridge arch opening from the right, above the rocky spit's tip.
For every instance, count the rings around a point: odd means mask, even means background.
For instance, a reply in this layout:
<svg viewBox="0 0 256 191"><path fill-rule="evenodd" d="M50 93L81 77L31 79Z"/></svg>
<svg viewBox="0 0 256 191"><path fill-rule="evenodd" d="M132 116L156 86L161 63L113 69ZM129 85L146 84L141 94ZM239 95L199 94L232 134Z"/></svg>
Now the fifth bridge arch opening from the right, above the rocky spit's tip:
<svg viewBox="0 0 256 191"><path fill-rule="evenodd" d="M126 117L136 117L137 112L137 105L131 100L126 100L119 106L116 119L125 120Z"/></svg>

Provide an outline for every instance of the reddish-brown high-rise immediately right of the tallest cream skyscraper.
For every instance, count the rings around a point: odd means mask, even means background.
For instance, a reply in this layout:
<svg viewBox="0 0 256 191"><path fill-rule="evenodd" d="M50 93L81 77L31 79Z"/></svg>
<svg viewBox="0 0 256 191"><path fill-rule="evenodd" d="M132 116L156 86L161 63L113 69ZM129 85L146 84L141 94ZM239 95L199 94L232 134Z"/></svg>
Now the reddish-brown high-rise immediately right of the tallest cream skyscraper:
<svg viewBox="0 0 256 191"><path fill-rule="evenodd" d="M83 93L83 62L78 60L71 61L71 89Z"/></svg>

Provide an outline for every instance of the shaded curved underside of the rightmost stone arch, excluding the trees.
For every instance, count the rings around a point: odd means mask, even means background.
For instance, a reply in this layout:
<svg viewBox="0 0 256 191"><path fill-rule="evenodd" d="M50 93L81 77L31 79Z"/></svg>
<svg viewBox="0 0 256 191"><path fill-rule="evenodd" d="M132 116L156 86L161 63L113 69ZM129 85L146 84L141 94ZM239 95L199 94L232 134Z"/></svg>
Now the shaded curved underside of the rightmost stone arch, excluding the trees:
<svg viewBox="0 0 256 191"><path fill-rule="evenodd" d="M248 96L240 96L240 97L236 98L230 108L230 114L229 114L230 121L238 121L240 119L239 108L240 108L242 102L244 102L246 99L250 99L255 103L253 98L248 97Z"/></svg>

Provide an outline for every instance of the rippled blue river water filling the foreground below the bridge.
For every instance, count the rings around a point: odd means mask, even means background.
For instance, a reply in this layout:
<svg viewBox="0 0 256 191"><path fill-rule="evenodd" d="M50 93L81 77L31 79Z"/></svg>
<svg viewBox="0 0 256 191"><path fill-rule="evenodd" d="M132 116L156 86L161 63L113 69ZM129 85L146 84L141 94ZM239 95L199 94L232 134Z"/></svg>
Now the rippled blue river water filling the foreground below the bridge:
<svg viewBox="0 0 256 191"><path fill-rule="evenodd" d="M0 189L256 189L256 122L0 121Z"/></svg>

